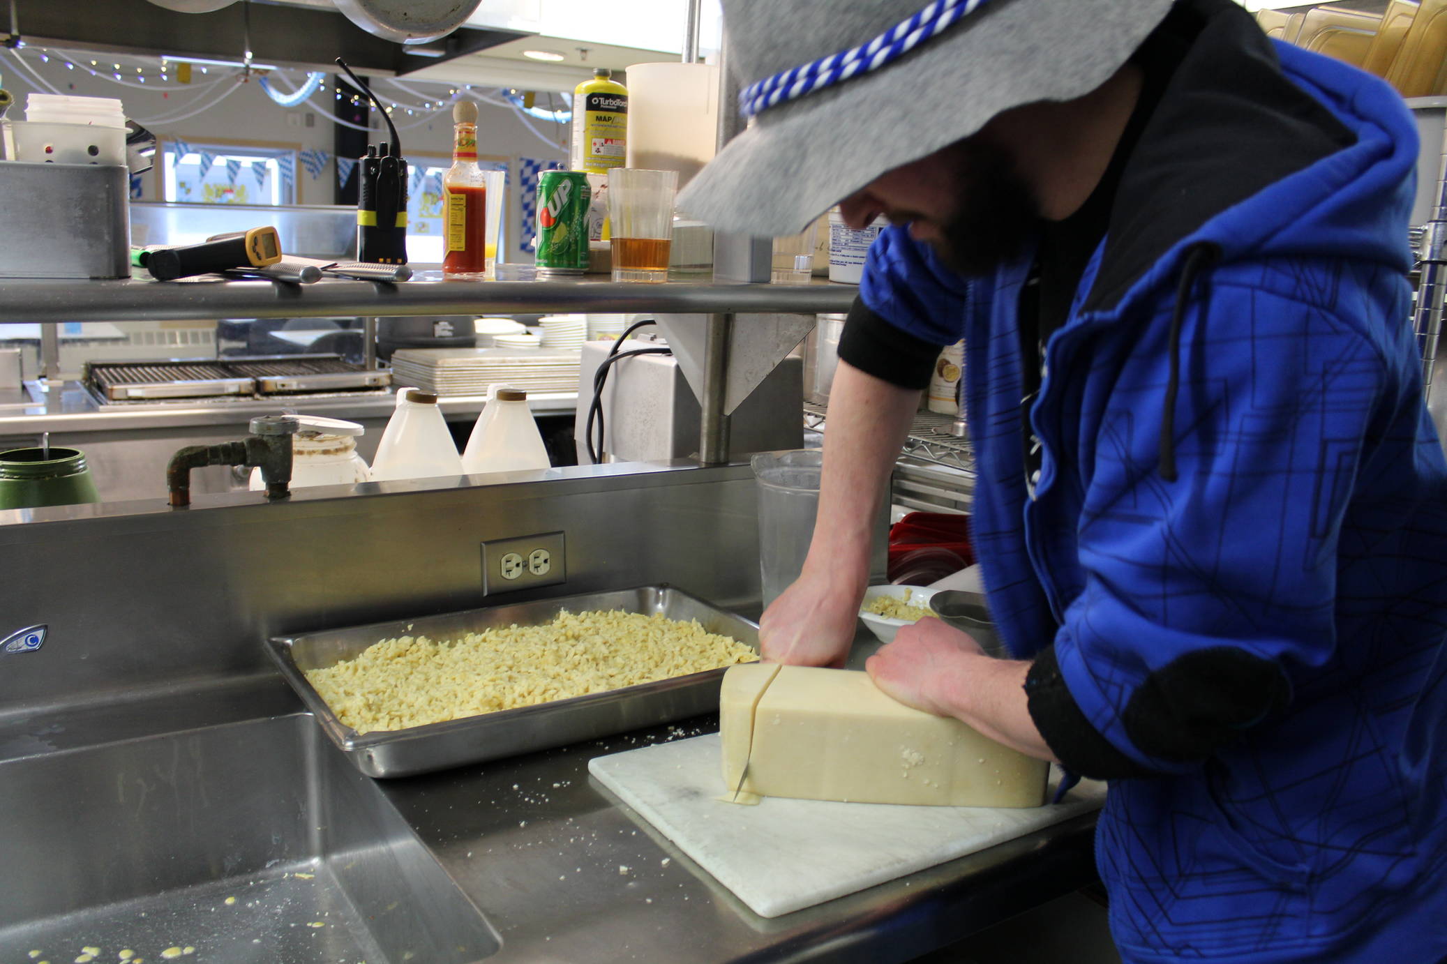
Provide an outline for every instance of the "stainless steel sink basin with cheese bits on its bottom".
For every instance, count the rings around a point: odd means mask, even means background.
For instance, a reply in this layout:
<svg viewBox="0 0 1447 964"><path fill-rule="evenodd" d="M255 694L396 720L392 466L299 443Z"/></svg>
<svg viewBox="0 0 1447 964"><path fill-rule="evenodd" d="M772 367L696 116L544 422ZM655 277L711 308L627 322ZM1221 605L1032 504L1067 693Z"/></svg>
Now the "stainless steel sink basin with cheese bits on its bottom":
<svg viewBox="0 0 1447 964"><path fill-rule="evenodd" d="M310 715L0 763L0 961L463 964L498 947Z"/></svg>

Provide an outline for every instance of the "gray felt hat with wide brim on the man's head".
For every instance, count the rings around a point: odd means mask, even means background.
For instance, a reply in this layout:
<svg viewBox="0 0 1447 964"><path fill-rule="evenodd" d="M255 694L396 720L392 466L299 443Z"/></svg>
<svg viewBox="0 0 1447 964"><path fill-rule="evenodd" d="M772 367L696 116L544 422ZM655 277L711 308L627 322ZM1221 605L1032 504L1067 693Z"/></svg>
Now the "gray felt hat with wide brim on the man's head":
<svg viewBox="0 0 1447 964"><path fill-rule="evenodd" d="M747 90L928 17L941 1L724 0L726 67ZM1171 4L965 0L969 13L878 69L760 110L680 193L679 207L721 230L797 233L886 171L968 138L1003 110L1094 90Z"/></svg>

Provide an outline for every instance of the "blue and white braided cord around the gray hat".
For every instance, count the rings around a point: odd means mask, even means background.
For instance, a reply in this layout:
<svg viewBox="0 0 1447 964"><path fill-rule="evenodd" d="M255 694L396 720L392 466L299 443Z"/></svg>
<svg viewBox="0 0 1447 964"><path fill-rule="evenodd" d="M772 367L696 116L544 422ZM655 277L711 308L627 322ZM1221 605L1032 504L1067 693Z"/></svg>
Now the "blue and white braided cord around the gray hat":
<svg viewBox="0 0 1447 964"><path fill-rule="evenodd" d="M852 77L877 71L897 61L916 46L954 26L990 0L935 0L928 7L900 20L868 43L822 56L810 64L765 77L738 96L738 110L745 117L797 100L816 90L841 84Z"/></svg>

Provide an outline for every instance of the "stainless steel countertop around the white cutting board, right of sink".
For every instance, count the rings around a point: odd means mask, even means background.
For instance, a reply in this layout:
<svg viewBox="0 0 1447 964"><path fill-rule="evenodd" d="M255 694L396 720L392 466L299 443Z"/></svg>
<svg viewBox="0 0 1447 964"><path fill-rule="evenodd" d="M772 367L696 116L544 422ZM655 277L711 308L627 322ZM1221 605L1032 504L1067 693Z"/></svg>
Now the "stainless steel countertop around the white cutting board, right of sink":
<svg viewBox="0 0 1447 964"><path fill-rule="evenodd" d="M907 961L1095 877L1094 816L765 919L587 776L716 718L383 785L502 936L496 961ZM627 871L621 871L627 867Z"/></svg>

